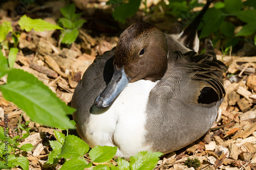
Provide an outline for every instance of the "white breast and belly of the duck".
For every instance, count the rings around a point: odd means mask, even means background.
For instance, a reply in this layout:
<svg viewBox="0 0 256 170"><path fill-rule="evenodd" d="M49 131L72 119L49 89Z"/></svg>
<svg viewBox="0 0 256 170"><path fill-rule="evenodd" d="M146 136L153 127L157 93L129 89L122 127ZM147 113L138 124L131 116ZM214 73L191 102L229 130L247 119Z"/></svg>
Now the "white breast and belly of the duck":
<svg viewBox="0 0 256 170"><path fill-rule="evenodd" d="M90 147L118 146L116 157L125 158L149 150L150 146L143 145L145 109L156 84L146 80L129 83L108 111L91 114L86 132Z"/></svg>

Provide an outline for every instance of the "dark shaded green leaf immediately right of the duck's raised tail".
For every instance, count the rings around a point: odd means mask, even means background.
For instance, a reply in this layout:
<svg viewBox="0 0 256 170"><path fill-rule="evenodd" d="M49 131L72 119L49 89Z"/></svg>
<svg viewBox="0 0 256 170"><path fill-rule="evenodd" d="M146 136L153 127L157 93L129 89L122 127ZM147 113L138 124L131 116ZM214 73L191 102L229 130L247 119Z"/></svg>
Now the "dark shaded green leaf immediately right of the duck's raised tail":
<svg viewBox="0 0 256 170"><path fill-rule="evenodd" d="M199 39L207 37L210 33L217 31L224 19L225 14L221 10L215 8L208 9L203 16L205 26L201 31Z"/></svg>

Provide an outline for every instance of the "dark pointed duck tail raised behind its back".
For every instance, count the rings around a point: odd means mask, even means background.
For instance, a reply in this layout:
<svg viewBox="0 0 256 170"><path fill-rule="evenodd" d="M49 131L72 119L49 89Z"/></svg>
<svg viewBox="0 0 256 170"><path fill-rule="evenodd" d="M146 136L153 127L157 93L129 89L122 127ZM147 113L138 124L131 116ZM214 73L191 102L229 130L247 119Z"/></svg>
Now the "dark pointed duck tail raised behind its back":
<svg viewBox="0 0 256 170"><path fill-rule="evenodd" d="M199 51L199 38L197 34L197 28L204 13L207 11L212 1L213 0L207 0L204 8L179 35L178 41L197 53Z"/></svg>

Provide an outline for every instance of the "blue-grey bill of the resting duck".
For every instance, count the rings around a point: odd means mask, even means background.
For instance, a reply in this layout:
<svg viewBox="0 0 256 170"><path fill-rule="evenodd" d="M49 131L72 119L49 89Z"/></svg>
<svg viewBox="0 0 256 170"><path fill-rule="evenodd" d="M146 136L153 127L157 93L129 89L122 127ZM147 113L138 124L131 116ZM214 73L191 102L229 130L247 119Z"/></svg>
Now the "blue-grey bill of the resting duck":
<svg viewBox="0 0 256 170"><path fill-rule="evenodd" d="M115 66L111 81L96 98L94 105L99 109L109 108L130 81L131 78L126 76L123 67L117 69Z"/></svg>

